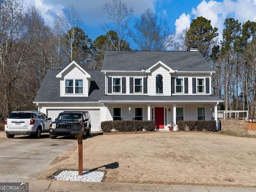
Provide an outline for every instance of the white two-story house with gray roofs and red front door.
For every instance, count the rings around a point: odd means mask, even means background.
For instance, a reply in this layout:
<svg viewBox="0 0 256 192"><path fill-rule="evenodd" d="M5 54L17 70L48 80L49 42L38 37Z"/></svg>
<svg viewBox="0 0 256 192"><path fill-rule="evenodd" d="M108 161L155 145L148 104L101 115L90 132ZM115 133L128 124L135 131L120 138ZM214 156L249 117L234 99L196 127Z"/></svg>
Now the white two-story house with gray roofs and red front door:
<svg viewBox="0 0 256 192"><path fill-rule="evenodd" d="M71 62L49 70L34 103L56 118L64 110L88 110L92 131L106 120L155 120L168 129L178 120L211 120L223 102L211 92L210 64L188 51L106 51L102 70ZM215 119L217 120L217 119Z"/></svg>

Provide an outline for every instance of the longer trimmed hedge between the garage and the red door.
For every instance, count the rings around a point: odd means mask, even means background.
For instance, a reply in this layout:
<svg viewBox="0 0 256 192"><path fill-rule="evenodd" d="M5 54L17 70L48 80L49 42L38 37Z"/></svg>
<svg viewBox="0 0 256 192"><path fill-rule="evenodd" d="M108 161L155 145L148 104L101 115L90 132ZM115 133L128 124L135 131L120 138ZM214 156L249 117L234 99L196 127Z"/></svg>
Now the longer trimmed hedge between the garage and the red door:
<svg viewBox="0 0 256 192"><path fill-rule="evenodd" d="M116 120L101 122L103 132L110 132L112 129L120 132L129 131L154 131L156 128L155 121L140 121L140 120Z"/></svg>

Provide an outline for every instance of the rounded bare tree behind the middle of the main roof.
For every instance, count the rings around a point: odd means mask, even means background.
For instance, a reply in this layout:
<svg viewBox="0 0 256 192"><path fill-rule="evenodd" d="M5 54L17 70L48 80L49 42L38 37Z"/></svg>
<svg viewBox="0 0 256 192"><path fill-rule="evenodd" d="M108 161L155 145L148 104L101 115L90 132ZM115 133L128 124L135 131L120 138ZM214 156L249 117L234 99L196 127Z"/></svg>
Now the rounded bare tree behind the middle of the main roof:
<svg viewBox="0 0 256 192"><path fill-rule="evenodd" d="M132 40L140 50L166 50L172 46L174 35L171 34L168 22L162 16L154 14L147 8L135 21L134 30L129 31Z"/></svg>

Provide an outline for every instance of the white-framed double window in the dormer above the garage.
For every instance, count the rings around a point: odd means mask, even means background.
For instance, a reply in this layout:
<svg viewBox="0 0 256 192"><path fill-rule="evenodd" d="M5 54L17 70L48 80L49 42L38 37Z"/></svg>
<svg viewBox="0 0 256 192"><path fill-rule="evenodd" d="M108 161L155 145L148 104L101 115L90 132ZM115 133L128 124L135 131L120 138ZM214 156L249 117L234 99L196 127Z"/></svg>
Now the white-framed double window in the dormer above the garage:
<svg viewBox="0 0 256 192"><path fill-rule="evenodd" d="M83 94L82 79L65 79L65 94Z"/></svg>

